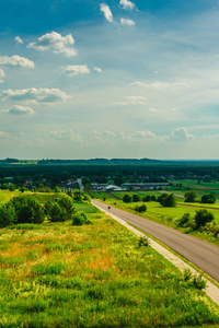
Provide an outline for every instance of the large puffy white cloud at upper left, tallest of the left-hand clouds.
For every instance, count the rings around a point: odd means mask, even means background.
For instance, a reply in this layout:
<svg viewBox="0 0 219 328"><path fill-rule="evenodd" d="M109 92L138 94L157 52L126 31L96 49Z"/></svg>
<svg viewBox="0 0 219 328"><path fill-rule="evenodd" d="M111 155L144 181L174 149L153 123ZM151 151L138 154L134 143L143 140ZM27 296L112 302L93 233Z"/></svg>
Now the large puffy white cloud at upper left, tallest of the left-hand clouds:
<svg viewBox="0 0 219 328"><path fill-rule="evenodd" d="M27 47L38 51L51 50L54 54L64 54L67 57L77 55L73 48L74 39L71 34L61 36L61 34L51 32L41 36L37 42L31 43Z"/></svg>

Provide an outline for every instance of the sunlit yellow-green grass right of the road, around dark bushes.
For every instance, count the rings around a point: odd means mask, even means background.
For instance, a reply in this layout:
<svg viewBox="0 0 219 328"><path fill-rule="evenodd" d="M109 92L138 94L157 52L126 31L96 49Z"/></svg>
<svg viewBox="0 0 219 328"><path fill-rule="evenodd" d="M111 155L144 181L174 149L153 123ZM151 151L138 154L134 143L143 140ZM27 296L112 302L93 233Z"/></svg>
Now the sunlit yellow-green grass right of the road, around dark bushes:
<svg viewBox="0 0 219 328"><path fill-rule="evenodd" d="M118 209L128 211L130 213L142 216L145 219L177 229L181 232L191 234L200 239L204 239L206 242L209 242L209 243L212 243L212 244L219 246L218 237L214 237L214 236L207 234L206 232L193 231L193 230L188 230L185 227L180 227L177 225L177 221L178 221L178 219L181 219L183 216L183 214L189 213L192 218L195 216L196 210L198 210L198 208L199 208L198 203L197 203L197 208L194 207L196 203L191 203L192 207L188 206L189 203L187 203L187 206L184 206L184 203L177 203L175 208L165 208L165 207L162 207L159 202L150 201L150 202L146 202L147 212L137 213L135 211L135 207L137 204L136 202L125 203L125 202L123 202L123 200L115 201L115 199L112 199L112 198L107 199L105 202L107 202L110 206L114 206ZM142 202L138 202L138 204L142 204ZM204 204L200 204L200 206L204 206ZM208 204L208 206L211 206L211 204ZM206 208L206 207L204 207L204 208ZM216 208L216 209L210 209L209 211L215 215L216 222L219 223L219 210Z"/></svg>

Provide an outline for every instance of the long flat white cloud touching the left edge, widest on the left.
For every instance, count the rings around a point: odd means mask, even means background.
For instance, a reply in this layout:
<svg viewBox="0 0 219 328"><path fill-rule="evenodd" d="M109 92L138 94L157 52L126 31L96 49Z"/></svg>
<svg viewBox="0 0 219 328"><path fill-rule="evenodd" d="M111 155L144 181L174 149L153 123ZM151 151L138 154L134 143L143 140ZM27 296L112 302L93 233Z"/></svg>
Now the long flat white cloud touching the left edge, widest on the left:
<svg viewBox="0 0 219 328"><path fill-rule="evenodd" d="M31 101L34 103L53 104L64 102L69 96L59 89L22 89L22 90L4 90L0 95L2 99L13 101Z"/></svg>

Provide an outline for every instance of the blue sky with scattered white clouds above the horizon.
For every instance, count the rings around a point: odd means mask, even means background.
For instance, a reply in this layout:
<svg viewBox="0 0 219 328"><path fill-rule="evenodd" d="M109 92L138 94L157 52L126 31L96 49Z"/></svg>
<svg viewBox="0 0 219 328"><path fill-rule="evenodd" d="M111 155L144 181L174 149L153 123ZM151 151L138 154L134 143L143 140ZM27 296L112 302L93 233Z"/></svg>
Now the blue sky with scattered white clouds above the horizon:
<svg viewBox="0 0 219 328"><path fill-rule="evenodd" d="M219 160L218 0L0 0L0 159Z"/></svg>

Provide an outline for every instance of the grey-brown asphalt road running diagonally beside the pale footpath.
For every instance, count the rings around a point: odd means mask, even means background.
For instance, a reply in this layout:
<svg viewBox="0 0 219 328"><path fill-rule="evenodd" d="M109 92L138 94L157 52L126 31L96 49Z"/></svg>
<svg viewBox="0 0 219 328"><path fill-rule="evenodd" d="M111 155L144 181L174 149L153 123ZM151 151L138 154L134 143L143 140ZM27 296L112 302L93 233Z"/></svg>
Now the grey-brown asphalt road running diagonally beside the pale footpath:
<svg viewBox="0 0 219 328"><path fill-rule="evenodd" d="M108 208L97 200L92 202L104 210ZM111 213L162 242L219 282L219 247L114 207Z"/></svg>

